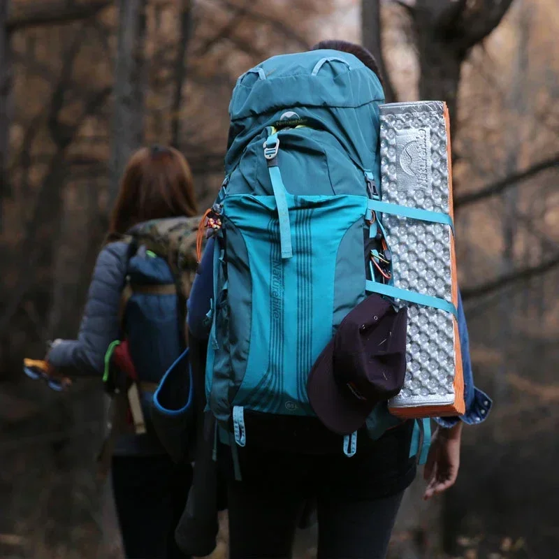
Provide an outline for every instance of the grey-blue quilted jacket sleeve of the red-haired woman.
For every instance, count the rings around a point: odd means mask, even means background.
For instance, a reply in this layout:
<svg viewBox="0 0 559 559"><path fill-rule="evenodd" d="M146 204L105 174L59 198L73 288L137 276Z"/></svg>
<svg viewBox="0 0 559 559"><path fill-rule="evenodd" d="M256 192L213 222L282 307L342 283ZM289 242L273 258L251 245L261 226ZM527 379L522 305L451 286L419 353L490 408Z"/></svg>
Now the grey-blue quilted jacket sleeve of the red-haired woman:
<svg viewBox="0 0 559 559"><path fill-rule="evenodd" d="M62 340L48 361L66 375L102 375L110 342L120 334L119 307L126 278L126 242L112 242L99 253L78 340Z"/></svg>

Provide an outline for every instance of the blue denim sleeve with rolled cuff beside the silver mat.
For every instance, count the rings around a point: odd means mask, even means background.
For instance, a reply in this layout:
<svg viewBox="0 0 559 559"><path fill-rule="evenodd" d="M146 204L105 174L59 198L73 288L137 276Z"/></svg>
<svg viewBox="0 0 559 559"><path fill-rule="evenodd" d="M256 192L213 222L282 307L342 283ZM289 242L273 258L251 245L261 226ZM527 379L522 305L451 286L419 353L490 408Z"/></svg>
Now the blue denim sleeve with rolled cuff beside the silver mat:
<svg viewBox="0 0 559 559"><path fill-rule="evenodd" d="M467 333L466 317L460 291L458 291L458 333L460 335L460 351L462 353L466 412L460 417L437 417L435 421L444 428L456 425L460 419L468 425L481 423L481 421L486 419L493 405L491 398L474 386L474 374L470 358L470 337Z"/></svg>

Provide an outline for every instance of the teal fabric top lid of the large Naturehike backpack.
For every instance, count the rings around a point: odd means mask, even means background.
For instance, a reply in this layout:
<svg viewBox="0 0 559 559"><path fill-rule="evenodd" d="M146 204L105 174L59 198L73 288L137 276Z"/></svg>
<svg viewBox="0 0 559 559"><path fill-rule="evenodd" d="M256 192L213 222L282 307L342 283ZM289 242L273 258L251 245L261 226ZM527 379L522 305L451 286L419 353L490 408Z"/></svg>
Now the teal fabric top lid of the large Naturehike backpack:
<svg viewBox="0 0 559 559"><path fill-rule="evenodd" d="M382 103L377 75L347 52L312 50L271 57L242 74L233 89L226 173L238 164L245 147L286 111L333 133L358 166L370 169ZM370 154L360 153L363 145Z"/></svg>

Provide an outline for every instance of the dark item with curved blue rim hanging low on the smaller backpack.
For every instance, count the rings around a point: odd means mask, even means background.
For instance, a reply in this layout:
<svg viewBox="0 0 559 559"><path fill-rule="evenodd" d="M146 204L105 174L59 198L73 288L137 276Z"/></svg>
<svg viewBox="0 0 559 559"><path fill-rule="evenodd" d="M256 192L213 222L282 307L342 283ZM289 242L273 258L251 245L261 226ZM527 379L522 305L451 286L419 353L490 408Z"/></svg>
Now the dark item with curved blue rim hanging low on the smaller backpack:
<svg viewBox="0 0 559 559"><path fill-rule="evenodd" d="M154 392L154 430L175 463L191 460L196 440L194 383L186 349L167 370Z"/></svg>

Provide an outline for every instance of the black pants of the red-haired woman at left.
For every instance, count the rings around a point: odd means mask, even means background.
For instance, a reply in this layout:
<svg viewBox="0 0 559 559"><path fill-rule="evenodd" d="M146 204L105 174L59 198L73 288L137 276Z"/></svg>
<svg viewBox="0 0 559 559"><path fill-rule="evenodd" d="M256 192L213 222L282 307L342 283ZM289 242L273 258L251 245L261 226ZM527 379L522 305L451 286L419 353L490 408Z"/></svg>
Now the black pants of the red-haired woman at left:
<svg viewBox="0 0 559 559"><path fill-rule="evenodd" d="M175 527L187 502L190 465L166 455L114 456L112 490L128 559L185 559Z"/></svg>

